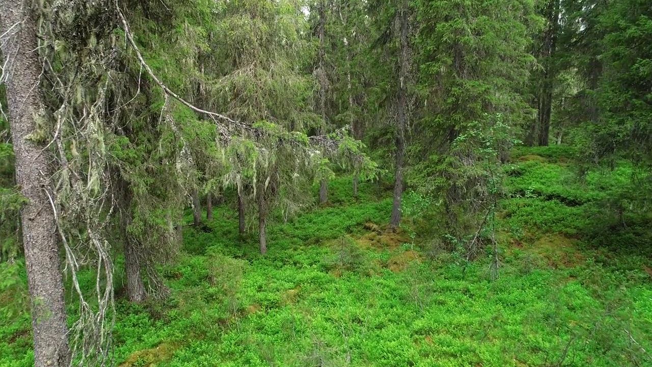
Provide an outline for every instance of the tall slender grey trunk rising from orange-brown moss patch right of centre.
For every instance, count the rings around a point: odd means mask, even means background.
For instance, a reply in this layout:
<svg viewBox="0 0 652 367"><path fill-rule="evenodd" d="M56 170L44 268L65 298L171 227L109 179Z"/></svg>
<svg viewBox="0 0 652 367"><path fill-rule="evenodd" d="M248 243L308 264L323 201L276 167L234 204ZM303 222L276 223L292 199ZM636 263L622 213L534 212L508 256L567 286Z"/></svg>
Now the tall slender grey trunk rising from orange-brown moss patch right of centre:
<svg viewBox="0 0 652 367"><path fill-rule="evenodd" d="M403 197L403 160L406 151L405 128L407 120L406 82L408 78L408 4L403 1L400 10L400 71L398 76L398 117L396 119L396 174L394 175L394 202L389 227L396 228L401 221L401 201Z"/></svg>

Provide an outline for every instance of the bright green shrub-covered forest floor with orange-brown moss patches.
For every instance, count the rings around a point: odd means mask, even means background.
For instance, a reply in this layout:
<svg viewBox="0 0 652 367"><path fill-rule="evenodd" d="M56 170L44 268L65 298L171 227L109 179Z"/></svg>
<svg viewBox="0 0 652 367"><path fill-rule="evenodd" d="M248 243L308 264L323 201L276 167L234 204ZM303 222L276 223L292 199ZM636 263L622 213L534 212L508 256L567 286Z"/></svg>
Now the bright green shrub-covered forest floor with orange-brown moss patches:
<svg viewBox="0 0 652 367"><path fill-rule="evenodd" d="M374 183L359 199L331 183L329 206L270 226L265 256L218 207L164 266L166 302L128 303L119 278L116 364L651 366L650 218L604 215L631 168L580 182L564 154L512 155L496 279L490 249L467 263L409 217L385 231L391 192ZM0 366L33 364L30 326L0 320Z"/></svg>

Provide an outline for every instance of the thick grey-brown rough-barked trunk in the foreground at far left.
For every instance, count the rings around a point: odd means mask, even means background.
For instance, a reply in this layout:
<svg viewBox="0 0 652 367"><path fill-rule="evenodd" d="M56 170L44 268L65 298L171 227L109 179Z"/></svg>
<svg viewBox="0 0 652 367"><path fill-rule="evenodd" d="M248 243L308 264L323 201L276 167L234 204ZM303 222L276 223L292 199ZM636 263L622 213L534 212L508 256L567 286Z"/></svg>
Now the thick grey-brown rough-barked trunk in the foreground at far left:
<svg viewBox="0 0 652 367"><path fill-rule="evenodd" d="M37 14L31 2L0 0L0 34L7 76L5 82L9 123L16 156L16 183L29 199L21 212L27 284L31 298L36 367L68 367L70 347L64 304L63 277L57 243L57 223L46 189L51 187L52 158L43 142L29 138L37 129L47 131L40 95ZM47 136L47 135L46 135Z"/></svg>

